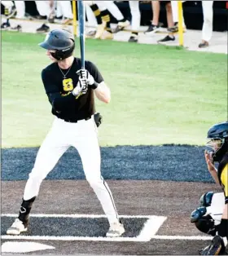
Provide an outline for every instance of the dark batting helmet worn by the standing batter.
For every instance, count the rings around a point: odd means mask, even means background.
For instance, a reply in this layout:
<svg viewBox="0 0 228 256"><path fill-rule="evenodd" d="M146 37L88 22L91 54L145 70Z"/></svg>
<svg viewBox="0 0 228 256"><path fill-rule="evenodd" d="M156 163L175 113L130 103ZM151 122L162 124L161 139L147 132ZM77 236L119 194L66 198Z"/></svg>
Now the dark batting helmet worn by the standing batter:
<svg viewBox="0 0 228 256"><path fill-rule="evenodd" d="M39 46L46 50L55 50L51 55L56 60L64 60L72 55L75 47L74 37L64 29L55 29L46 35L45 41Z"/></svg>

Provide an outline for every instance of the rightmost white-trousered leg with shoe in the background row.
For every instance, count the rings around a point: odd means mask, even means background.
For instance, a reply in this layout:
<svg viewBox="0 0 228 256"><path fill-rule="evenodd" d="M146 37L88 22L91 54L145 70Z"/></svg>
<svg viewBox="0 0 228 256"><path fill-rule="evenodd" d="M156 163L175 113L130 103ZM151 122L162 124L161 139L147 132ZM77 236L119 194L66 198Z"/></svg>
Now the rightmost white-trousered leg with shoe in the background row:
<svg viewBox="0 0 228 256"><path fill-rule="evenodd" d="M204 24L199 48L208 47L213 36L213 1L202 1Z"/></svg>

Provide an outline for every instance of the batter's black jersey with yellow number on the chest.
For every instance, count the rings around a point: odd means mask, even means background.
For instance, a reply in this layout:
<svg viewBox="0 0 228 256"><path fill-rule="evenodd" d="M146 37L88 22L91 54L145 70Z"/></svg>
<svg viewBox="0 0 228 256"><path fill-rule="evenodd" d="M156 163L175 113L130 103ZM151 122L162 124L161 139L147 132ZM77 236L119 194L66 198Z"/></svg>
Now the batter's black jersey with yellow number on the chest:
<svg viewBox="0 0 228 256"><path fill-rule="evenodd" d="M74 58L71 68L60 71L57 63L42 70L42 82L52 106L52 113L65 121L77 121L91 117L95 112L94 91L89 87L85 95L78 99L72 95L77 86L77 71L81 69L81 59ZM95 82L103 82L98 68L90 61L85 61L85 69L94 77ZM67 74L66 74L67 73Z"/></svg>

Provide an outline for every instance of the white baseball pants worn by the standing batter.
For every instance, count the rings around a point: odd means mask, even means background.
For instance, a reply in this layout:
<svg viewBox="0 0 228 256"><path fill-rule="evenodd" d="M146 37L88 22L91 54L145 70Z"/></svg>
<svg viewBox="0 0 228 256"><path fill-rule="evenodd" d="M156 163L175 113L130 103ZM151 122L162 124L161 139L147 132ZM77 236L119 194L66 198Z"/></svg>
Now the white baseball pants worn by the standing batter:
<svg viewBox="0 0 228 256"><path fill-rule="evenodd" d="M71 146L77 149L81 157L85 178L98 196L109 223L116 222L118 215L112 192L100 172L100 150L94 117L77 123L55 118L50 132L37 152L33 170L29 174L24 189L24 200L38 195L42 180ZM75 171L77 171L77 166L75 166Z"/></svg>

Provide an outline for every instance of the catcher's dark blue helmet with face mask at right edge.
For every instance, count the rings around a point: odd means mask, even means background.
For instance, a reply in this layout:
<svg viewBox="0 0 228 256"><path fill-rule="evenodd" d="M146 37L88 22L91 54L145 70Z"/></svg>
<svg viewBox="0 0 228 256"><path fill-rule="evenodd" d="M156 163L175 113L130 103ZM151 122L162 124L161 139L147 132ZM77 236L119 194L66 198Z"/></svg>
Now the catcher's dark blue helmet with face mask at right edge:
<svg viewBox="0 0 228 256"><path fill-rule="evenodd" d="M212 126L208 130L207 147L213 149L213 161L221 161L228 152L228 121Z"/></svg>

